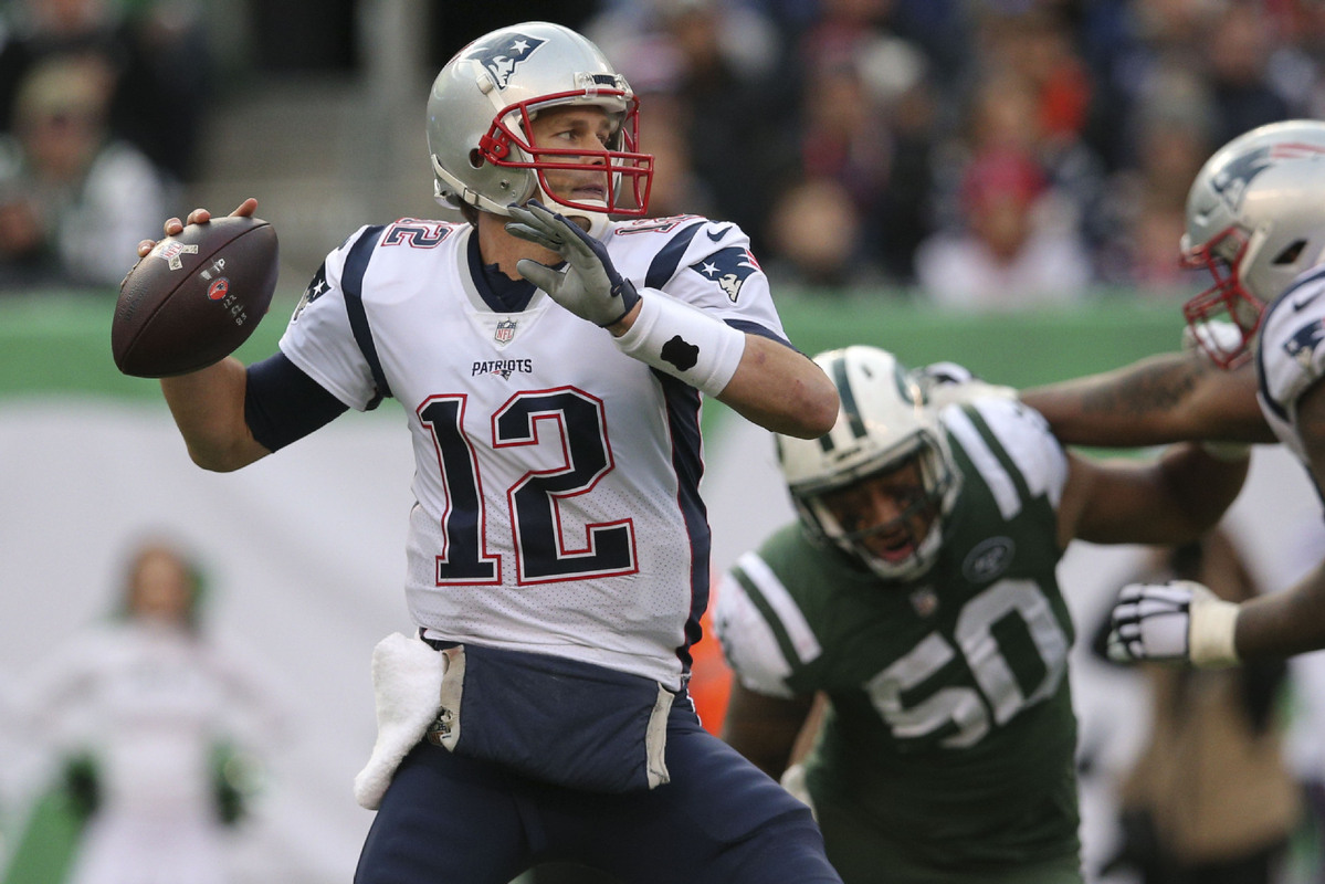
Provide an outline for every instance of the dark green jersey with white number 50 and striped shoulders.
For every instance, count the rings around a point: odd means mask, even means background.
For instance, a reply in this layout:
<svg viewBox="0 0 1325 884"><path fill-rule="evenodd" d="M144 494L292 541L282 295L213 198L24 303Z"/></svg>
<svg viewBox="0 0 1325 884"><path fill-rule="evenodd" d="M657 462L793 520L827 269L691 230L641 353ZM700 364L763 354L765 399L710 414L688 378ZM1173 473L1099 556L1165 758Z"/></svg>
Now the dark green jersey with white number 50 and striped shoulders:
<svg viewBox="0 0 1325 884"><path fill-rule="evenodd" d="M1011 880L1073 880L1073 628L1055 574L1067 459L1018 403L942 420L962 485L928 574L882 580L792 524L726 575L717 634L746 687L831 697L806 762L829 857L873 851L880 880L1034 864L1057 871Z"/></svg>

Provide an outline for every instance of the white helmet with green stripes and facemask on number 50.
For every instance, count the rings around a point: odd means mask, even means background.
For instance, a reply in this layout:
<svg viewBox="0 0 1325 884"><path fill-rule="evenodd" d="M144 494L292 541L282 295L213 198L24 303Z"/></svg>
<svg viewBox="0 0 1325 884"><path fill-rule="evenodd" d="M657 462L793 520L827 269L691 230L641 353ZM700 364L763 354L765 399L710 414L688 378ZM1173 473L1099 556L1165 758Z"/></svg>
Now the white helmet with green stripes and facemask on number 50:
<svg viewBox="0 0 1325 884"><path fill-rule="evenodd" d="M787 489L811 535L836 543L885 579L912 579L933 567L942 547L942 522L961 488L947 436L925 402L920 386L893 354L878 347L851 346L815 357L837 387L837 421L819 439L776 435L778 461ZM847 531L824 505L823 496L906 461L920 464L924 496L889 525ZM924 510L934 517L922 538L913 538L902 561L869 551L869 535Z"/></svg>

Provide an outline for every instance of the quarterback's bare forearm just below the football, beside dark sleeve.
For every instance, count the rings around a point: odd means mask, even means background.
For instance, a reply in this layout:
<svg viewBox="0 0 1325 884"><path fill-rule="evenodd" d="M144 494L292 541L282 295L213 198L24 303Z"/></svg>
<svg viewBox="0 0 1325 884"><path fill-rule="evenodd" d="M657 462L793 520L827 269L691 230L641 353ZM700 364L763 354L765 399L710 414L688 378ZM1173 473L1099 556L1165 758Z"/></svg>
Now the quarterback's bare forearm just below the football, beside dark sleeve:
<svg viewBox="0 0 1325 884"><path fill-rule="evenodd" d="M203 469L231 472L270 453L244 420L246 376L238 359L231 357L160 383L188 455Z"/></svg>

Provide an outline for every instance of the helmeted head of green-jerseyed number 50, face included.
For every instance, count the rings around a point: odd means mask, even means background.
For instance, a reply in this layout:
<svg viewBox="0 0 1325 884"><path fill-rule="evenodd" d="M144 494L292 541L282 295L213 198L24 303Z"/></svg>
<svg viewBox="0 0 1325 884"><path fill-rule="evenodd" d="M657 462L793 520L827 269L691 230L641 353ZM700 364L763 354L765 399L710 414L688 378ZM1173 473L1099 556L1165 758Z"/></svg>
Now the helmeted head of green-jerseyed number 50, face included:
<svg viewBox="0 0 1325 884"><path fill-rule="evenodd" d="M837 423L819 439L776 439L802 525L884 579L922 577L961 484L946 435L892 354L853 346L815 362L837 386Z"/></svg>

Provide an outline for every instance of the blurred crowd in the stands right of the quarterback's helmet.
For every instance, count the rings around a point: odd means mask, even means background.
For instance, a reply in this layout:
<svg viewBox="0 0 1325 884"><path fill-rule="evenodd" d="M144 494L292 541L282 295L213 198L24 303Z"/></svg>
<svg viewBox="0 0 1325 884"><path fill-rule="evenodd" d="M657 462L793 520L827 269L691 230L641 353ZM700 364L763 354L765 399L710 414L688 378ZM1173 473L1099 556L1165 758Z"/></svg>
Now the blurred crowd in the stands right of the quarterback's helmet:
<svg viewBox="0 0 1325 884"><path fill-rule="evenodd" d="M1316 0L619 1L587 30L645 94L659 212L967 309L1192 290L1195 171L1325 95Z"/></svg>

